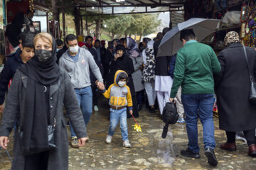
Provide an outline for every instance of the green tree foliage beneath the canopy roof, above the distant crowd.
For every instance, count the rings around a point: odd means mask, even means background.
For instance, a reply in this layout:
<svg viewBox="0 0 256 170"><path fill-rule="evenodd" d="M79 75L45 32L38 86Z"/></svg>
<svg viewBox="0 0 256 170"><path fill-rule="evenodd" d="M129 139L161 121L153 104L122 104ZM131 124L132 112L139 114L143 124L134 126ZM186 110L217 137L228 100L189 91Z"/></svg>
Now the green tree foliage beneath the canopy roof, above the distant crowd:
<svg viewBox="0 0 256 170"><path fill-rule="evenodd" d="M142 13L119 15L105 20L103 25L106 24L105 30L114 35L149 35L155 32L160 22L157 14Z"/></svg>

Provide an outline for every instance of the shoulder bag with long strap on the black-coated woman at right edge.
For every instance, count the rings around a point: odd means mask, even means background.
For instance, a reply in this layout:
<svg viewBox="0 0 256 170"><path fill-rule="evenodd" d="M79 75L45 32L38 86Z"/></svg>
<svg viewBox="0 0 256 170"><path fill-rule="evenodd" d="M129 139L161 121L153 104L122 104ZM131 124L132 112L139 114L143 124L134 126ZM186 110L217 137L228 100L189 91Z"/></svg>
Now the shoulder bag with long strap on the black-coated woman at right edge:
<svg viewBox="0 0 256 170"><path fill-rule="evenodd" d="M256 83L255 83L255 79L252 77L252 74L250 72L250 67L249 67L249 62L247 59L247 52L245 50L245 46L243 46L243 49L245 51L245 59L246 59L247 67L248 67L249 74L250 74L250 96L249 96L249 99L253 105L256 105Z"/></svg>

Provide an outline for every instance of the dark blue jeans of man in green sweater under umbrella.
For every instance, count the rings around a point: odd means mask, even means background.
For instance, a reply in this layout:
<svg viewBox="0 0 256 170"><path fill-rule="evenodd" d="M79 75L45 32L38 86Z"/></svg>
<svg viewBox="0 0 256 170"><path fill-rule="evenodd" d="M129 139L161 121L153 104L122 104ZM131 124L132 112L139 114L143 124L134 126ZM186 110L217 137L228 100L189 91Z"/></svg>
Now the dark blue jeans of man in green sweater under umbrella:
<svg viewBox="0 0 256 170"><path fill-rule="evenodd" d="M188 149L199 152L198 147L198 116L203 124L204 148L215 148L213 125L213 94L182 94L186 114L186 130L188 134Z"/></svg>

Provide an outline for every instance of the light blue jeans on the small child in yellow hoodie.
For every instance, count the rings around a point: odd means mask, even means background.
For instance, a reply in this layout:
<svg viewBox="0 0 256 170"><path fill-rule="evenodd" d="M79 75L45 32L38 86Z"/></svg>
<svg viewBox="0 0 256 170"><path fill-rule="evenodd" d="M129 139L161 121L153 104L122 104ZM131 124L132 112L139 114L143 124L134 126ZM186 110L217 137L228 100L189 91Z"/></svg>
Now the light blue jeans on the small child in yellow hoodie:
<svg viewBox="0 0 256 170"><path fill-rule="evenodd" d="M118 120L120 120L120 129L122 132L122 140L128 140L128 128L127 128L127 108L121 108L114 110L110 108L110 128L108 135L114 135L114 129L117 127Z"/></svg>

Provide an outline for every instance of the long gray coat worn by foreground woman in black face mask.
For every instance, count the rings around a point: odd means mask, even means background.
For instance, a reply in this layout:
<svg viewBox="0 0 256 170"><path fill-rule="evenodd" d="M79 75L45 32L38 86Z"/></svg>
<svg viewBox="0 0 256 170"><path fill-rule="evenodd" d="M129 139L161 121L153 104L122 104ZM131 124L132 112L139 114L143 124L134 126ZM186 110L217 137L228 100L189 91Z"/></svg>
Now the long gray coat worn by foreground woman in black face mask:
<svg viewBox="0 0 256 170"><path fill-rule="evenodd" d="M82 118L70 77L63 69L60 69L60 72L60 86L58 84L50 86L50 120L53 121L53 117L56 114L54 140L57 149L49 152L48 170L68 169L68 133L63 116L63 103L74 126L75 134L78 135L78 138L87 136L84 119ZM20 118L20 122L27 118L25 113L27 80L28 77L17 70L7 96L0 136L9 136L16 118ZM21 142L18 137L18 130L16 130L14 160L11 169L23 170L24 164L25 157L22 154Z"/></svg>

